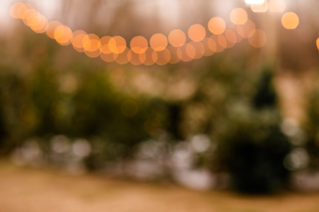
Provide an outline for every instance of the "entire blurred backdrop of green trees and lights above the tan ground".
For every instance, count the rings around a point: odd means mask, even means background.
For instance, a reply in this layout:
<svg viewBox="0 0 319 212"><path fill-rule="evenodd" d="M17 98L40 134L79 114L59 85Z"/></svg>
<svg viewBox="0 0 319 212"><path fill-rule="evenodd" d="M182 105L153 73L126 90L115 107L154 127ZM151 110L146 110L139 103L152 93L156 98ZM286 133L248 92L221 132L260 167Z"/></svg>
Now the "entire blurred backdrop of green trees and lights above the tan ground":
<svg viewBox="0 0 319 212"><path fill-rule="evenodd" d="M0 6L2 158L196 190L319 189L319 2Z"/></svg>

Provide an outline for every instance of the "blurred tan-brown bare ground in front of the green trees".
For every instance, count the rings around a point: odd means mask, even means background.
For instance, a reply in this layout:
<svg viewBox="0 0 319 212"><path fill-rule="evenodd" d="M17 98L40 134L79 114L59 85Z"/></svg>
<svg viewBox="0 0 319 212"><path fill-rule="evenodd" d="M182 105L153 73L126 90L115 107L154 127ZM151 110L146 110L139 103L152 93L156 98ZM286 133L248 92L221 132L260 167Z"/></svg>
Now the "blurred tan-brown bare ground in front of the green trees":
<svg viewBox="0 0 319 212"><path fill-rule="evenodd" d="M317 212L319 193L248 197L0 161L0 212Z"/></svg>

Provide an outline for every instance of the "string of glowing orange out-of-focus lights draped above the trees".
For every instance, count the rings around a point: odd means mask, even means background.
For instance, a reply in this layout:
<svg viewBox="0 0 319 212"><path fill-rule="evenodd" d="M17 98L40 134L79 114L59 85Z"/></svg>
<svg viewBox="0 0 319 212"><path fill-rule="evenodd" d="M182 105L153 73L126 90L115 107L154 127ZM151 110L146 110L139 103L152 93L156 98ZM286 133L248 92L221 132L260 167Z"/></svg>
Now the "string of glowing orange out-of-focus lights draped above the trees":
<svg viewBox="0 0 319 212"><path fill-rule="evenodd" d="M264 8L267 3L267 9ZM270 6L270 7L268 7ZM259 8L259 9L258 9ZM263 1L262 4L252 4L254 12L283 12L284 0ZM288 15L287 15L288 14ZM299 24L295 13L283 15L282 24L287 29L296 28ZM185 33L180 29L172 30L168 36L161 33L154 34L149 40L143 36L136 36L126 42L121 36L104 36L99 38L95 34L87 34L83 30L72 31L70 27L59 21L48 21L30 4L14 3L10 10L12 18L22 19L36 33L46 33L60 45L70 45L78 52L84 52L89 57L100 56L105 62L118 64L131 63L133 65L166 65L180 61L189 62L202 56L210 56L233 47L243 39L248 39L251 46L261 48L267 42L267 35L262 29L256 29L255 23L248 19L247 12L242 8L235 8L230 13L232 25L226 27L221 17L213 17L206 28L201 24L193 24ZM188 35L188 38L187 38ZM190 40L189 42L186 42ZM128 47L129 45L129 47Z"/></svg>

